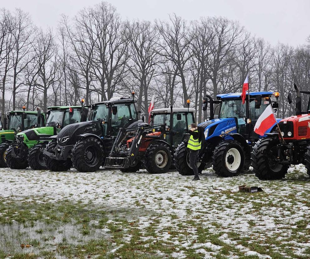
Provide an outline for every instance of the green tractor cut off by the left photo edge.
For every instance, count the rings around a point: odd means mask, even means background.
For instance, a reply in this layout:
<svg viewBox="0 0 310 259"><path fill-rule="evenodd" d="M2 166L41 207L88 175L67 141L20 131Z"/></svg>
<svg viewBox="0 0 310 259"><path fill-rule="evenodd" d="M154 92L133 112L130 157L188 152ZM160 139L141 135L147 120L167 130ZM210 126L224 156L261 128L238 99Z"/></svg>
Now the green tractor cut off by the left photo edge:
<svg viewBox="0 0 310 259"><path fill-rule="evenodd" d="M36 111L25 111L25 106L23 106L22 109L23 110L8 112L4 118L4 123L2 124L1 122L0 167L7 167L5 162L6 150L15 140L16 133L34 128L38 124ZM45 114L41 114L39 117L39 123L44 123Z"/></svg>

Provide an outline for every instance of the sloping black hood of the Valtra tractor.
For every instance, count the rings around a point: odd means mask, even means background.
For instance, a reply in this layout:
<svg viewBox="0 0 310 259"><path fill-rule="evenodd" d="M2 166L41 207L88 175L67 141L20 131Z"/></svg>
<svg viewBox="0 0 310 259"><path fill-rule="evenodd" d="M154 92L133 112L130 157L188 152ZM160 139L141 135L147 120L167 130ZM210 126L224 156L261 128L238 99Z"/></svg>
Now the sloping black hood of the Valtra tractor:
<svg viewBox="0 0 310 259"><path fill-rule="evenodd" d="M74 145L78 140L78 136L82 134L96 134L99 137L102 135L101 122L99 120L78 122L69 124L61 129L57 136L57 143L59 145Z"/></svg>

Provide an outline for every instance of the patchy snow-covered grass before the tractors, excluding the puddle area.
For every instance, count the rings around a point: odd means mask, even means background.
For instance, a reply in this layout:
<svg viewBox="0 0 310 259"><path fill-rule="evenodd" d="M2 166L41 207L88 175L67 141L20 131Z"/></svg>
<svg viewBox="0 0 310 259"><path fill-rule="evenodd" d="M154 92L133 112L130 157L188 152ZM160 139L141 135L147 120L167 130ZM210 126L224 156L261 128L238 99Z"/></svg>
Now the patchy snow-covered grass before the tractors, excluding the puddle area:
<svg viewBox="0 0 310 259"><path fill-rule="evenodd" d="M310 182L304 166L290 168L285 179L276 181L258 180L251 171L219 178L212 169L203 171L201 181L191 179L175 171L1 169L0 222L12 217L6 204L31 208L65 201L104 211L106 225L99 217L89 224L100 223L100 231L110 234L105 238L112 258L126 258L129 252L141 258L310 257ZM239 192L239 185L259 186L263 192ZM12 253L0 245L1 250Z"/></svg>

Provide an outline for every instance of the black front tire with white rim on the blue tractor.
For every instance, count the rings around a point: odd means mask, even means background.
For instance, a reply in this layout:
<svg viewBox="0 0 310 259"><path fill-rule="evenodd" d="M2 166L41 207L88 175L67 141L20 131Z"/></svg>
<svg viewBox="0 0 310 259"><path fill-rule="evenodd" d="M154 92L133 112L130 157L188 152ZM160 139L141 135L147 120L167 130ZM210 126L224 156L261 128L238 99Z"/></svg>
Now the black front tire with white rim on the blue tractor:
<svg viewBox="0 0 310 259"><path fill-rule="evenodd" d="M222 177L237 176L241 173L245 163L242 146L236 140L220 142L212 155L213 170Z"/></svg>

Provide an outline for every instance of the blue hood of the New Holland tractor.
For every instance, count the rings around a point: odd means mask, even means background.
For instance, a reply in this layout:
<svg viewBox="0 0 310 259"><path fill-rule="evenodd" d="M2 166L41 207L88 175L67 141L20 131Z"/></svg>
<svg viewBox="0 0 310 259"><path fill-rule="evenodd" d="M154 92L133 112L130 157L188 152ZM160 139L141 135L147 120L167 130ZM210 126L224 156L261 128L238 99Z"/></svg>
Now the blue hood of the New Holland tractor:
<svg viewBox="0 0 310 259"><path fill-rule="evenodd" d="M212 119L202 122L198 126L204 128L206 140L215 136L221 137L223 134L237 132L235 118Z"/></svg>

